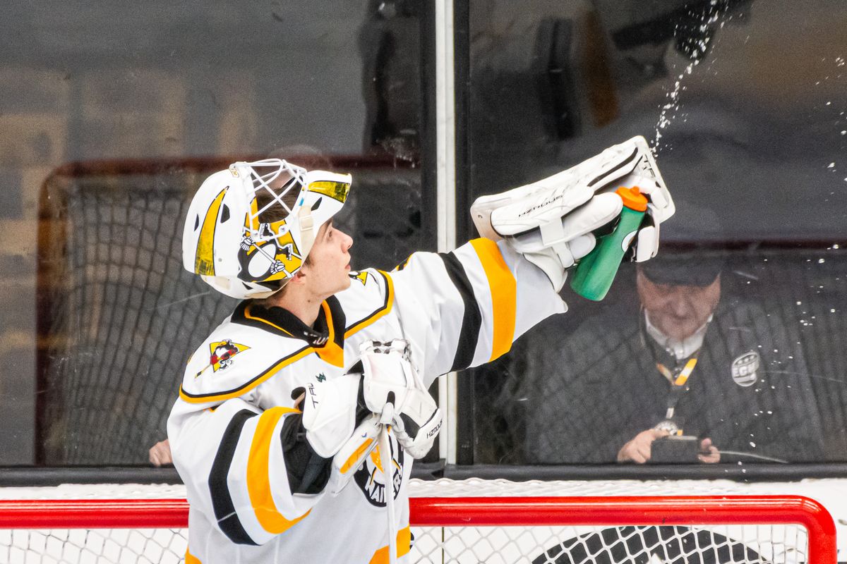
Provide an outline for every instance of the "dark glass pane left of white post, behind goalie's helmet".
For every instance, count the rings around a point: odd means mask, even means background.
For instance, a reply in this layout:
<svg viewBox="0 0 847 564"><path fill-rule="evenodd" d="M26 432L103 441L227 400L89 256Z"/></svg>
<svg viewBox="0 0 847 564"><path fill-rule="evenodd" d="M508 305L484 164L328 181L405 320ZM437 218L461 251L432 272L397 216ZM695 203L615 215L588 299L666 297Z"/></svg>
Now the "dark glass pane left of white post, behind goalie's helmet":
<svg viewBox="0 0 847 564"><path fill-rule="evenodd" d="M354 266L435 246L414 5L13 3L4 19L0 464L146 462L187 354L232 306L181 271L179 240L186 199L231 160L353 172Z"/></svg>

